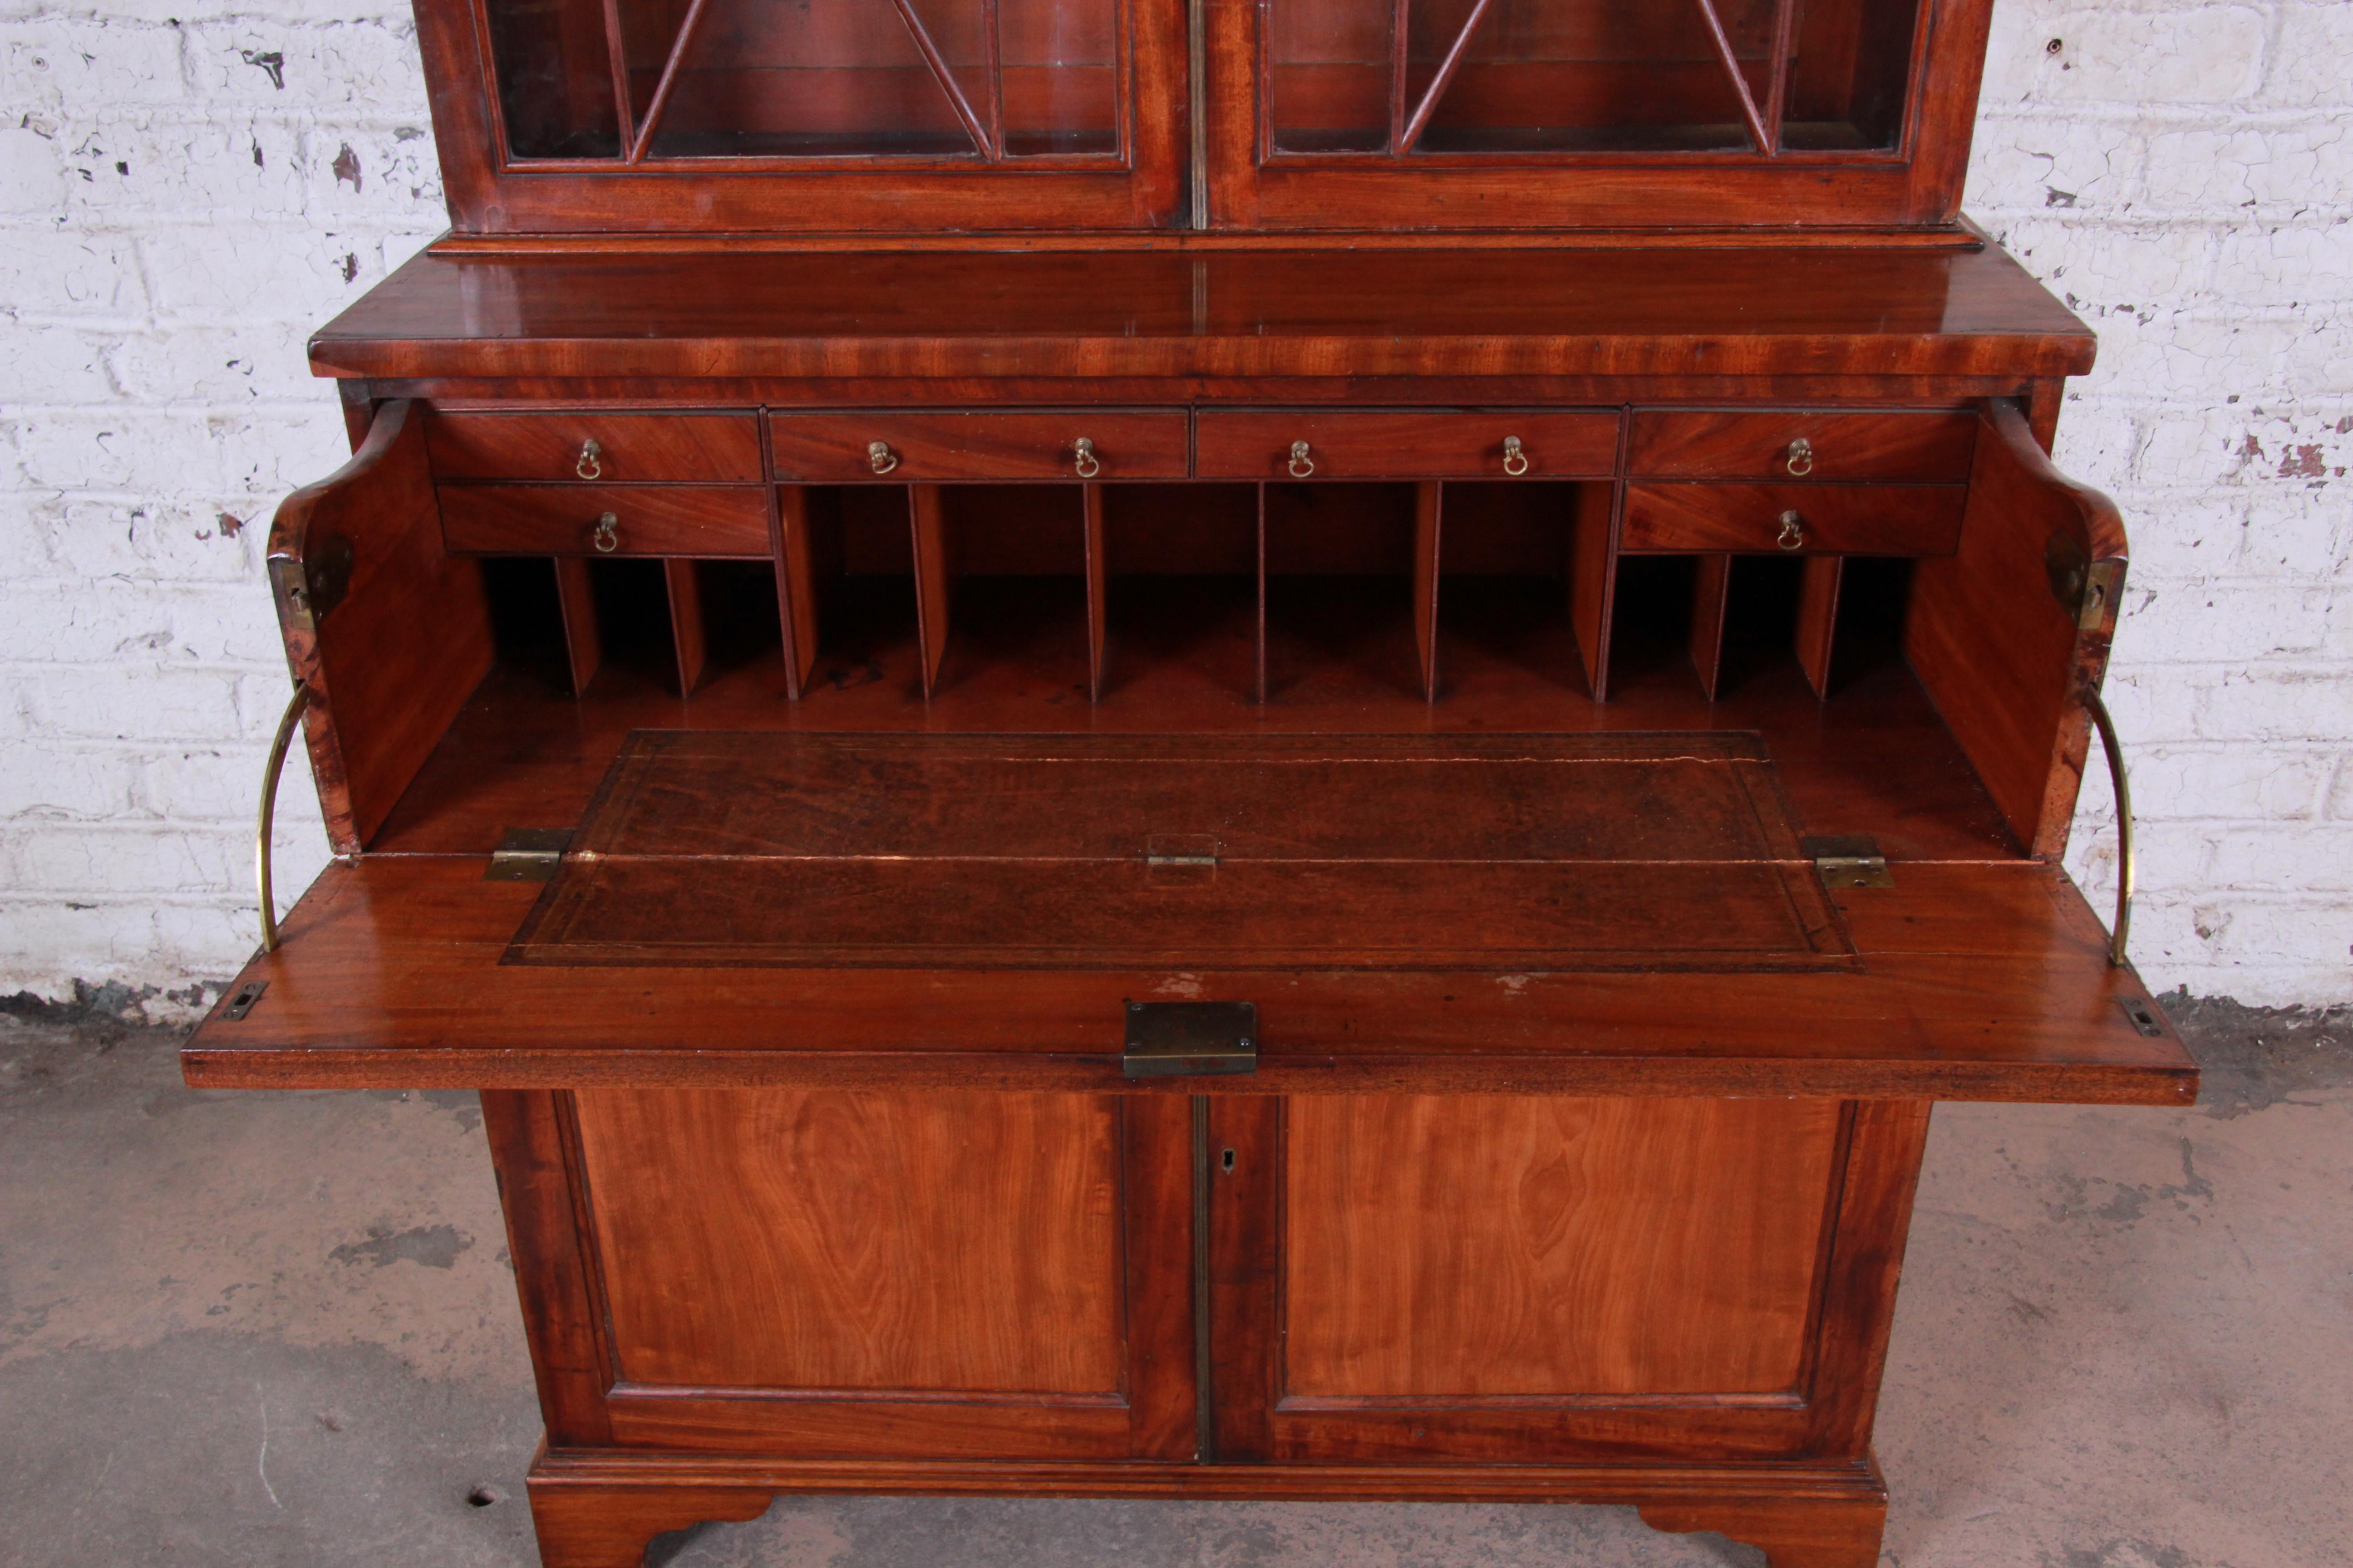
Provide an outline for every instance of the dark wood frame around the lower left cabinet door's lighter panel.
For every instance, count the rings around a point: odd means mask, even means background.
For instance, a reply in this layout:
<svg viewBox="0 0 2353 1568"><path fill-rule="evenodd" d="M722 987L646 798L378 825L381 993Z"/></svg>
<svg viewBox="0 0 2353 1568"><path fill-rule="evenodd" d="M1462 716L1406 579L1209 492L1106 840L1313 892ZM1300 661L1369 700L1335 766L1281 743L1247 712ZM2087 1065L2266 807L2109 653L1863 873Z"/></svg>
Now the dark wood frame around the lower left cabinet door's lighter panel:
<svg viewBox="0 0 2353 1568"><path fill-rule="evenodd" d="M624 1382L574 1095L485 1088L482 1121L506 1208L548 1448L871 1460L1193 1460L1200 1436L1193 1399L1193 1121L1176 1095L1118 1095L1115 1114L1125 1328L1120 1401L776 1396Z"/></svg>

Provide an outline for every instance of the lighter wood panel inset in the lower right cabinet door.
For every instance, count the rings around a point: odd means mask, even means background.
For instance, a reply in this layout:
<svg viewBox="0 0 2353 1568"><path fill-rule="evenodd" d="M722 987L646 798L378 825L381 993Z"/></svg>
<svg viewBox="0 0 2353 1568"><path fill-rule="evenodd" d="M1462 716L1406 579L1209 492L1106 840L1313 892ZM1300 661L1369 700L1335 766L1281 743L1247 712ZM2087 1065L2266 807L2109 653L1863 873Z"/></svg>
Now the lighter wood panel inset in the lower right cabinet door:
<svg viewBox="0 0 2353 1568"><path fill-rule="evenodd" d="M1282 1408L1802 1387L1838 1103L1285 1114Z"/></svg>

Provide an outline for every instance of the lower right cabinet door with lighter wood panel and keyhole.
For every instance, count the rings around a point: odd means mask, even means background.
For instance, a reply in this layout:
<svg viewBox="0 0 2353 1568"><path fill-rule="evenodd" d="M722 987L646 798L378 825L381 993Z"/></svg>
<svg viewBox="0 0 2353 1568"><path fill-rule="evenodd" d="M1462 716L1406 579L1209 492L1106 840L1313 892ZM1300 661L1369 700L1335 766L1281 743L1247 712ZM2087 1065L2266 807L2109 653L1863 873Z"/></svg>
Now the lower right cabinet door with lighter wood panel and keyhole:
<svg viewBox="0 0 2353 1568"><path fill-rule="evenodd" d="M1212 1458L1861 1453L1918 1105L1219 1098Z"/></svg>

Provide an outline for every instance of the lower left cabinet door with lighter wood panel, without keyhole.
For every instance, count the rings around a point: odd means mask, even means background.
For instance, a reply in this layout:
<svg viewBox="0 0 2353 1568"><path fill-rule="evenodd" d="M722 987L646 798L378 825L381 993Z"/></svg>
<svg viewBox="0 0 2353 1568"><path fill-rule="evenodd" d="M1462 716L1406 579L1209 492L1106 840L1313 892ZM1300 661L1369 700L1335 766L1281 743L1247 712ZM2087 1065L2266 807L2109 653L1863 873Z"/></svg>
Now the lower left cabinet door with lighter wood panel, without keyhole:
<svg viewBox="0 0 2353 1568"><path fill-rule="evenodd" d="M562 1401L546 1401L551 1443L1195 1455L1184 1100L544 1098L588 1309L532 1312L525 1284L534 1352L544 1387L581 1361L602 1382L572 1422L586 1432L560 1434ZM518 1258L546 1269L560 1237L527 1239L513 1164L501 1152Z"/></svg>

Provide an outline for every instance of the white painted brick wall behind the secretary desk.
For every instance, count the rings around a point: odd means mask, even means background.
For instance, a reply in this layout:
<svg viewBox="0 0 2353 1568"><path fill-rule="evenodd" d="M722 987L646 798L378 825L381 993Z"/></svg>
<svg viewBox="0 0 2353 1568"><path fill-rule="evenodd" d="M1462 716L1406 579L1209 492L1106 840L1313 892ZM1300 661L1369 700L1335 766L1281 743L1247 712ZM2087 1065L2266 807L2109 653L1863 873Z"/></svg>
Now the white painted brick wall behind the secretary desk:
<svg viewBox="0 0 2353 1568"><path fill-rule="evenodd" d="M186 994L252 947L259 536L346 454L301 341L442 228L431 146L400 0L0 0L0 992ZM2002 0L1969 209L2101 334L2059 456L2134 536L2134 954L2341 1001L2353 5ZM294 762L287 886L306 795ZM2099 783L2075 870L2113 877Z"/></svg>

